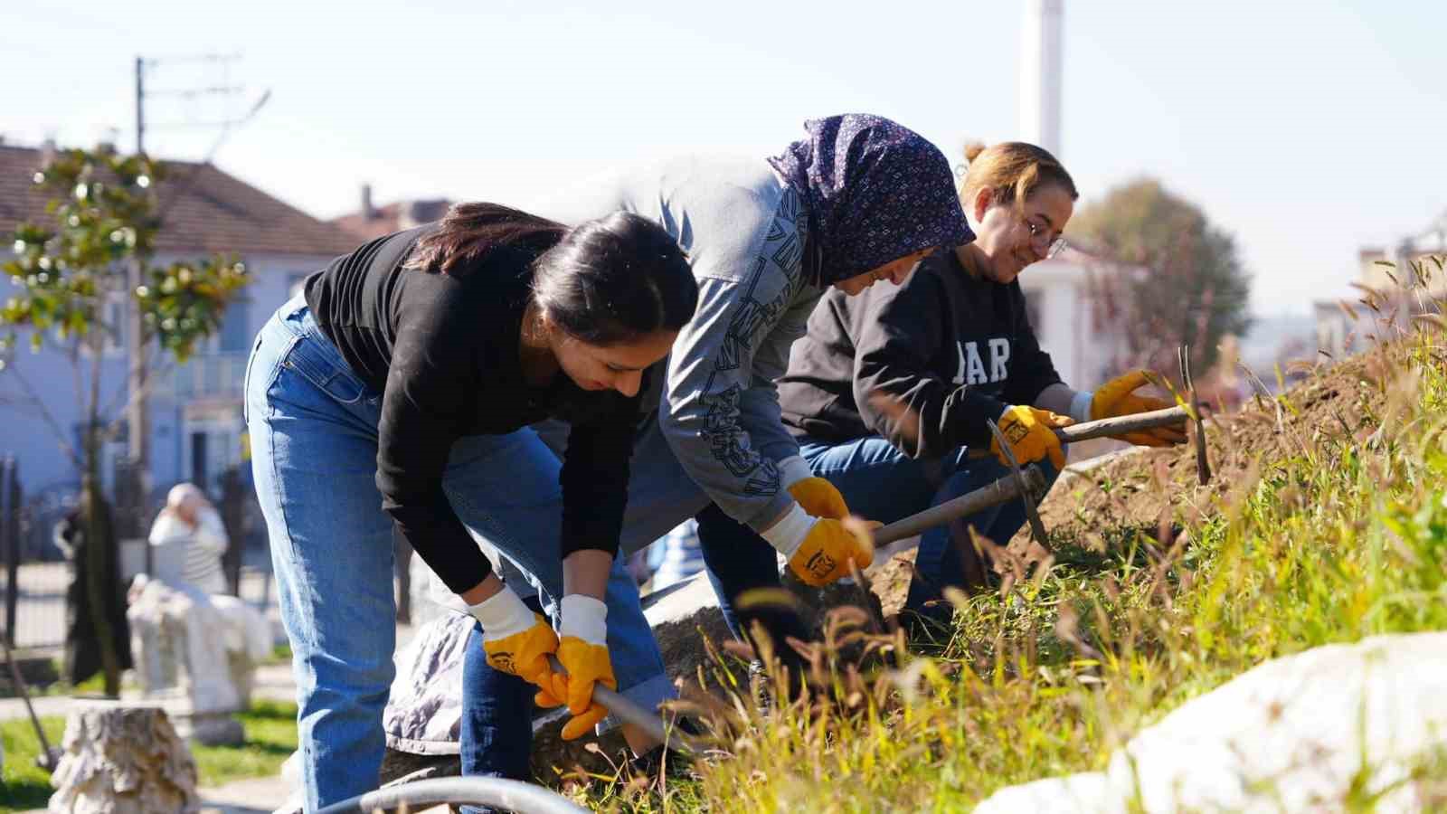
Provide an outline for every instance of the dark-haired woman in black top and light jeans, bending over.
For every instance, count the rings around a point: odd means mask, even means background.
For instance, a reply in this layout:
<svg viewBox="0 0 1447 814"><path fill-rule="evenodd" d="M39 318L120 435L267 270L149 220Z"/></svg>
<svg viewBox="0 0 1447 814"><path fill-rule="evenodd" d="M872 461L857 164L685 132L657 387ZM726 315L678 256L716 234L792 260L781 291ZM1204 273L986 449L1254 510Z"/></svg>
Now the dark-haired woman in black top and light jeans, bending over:
<svg viewBox="0 0 1447 814"><path fill-rule="evenodd" d="M642 217L564 229L463 204L337 258L262 329L247 429L294 655L308 810L376 785L394 524L478 618L489 663L535 684L541 702L567 702L573 736L603 717L589 698L595 682L619 684L603 597L637 393L696 298L686 258ZM573 426L561 465L527 429L546 417ZM560 519L538 510L559 485ZM561 558L561 639L470 533L524 569ZM635 594L632 605L622 616L637 626ZM551 672L550 653L569 676ZM619 666L627 692L638 676Z"/></svg>

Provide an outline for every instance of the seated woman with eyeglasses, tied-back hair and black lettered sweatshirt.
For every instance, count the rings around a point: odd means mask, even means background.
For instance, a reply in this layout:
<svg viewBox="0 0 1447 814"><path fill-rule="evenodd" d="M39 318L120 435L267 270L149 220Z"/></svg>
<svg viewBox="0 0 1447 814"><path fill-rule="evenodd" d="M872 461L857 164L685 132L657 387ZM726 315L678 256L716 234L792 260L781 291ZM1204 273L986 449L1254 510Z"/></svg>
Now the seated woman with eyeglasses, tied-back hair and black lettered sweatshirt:
<svg viewBox="0 0 1447 814"><path fill-rule="evenodd" d="M932 253L900 287L826 294L778 385L784 423L813 474L851 510L886 523L1004 475L991 420L1014 458L1039 463L1053 484L1065 465L1055 427L1166 406L1134 394L1145 371L1094 393L1072 390L1036 340L1017 278L1065 248L1061 233L1078 197L1069 172L1029 143L972 145L965 156L959 196L974 240ZM1172 429L1126 440L1184 436ZM993 455L971 456L977 449ZM1011 501L964 523L1004 545L1024 508ZM983 578L961 555L948 527L923 534L906 610L948 620L949 605L929 601Z"/></svg>

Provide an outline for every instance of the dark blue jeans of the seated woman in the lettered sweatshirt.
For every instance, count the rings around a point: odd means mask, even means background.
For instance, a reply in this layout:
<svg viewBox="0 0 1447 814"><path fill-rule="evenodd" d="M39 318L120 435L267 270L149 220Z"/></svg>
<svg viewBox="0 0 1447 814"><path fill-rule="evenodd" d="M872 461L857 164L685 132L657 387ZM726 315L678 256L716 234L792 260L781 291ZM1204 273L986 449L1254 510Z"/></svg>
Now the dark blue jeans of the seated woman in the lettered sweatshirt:
<svg viewBox="0 0 1447 814"><path fill-rule="evenodd" d="M893 523L938 505L946 500L978 490L1004 477L1006 468L991 458L971 459L961 448L943 459L916 461L878 436L844 443L819 443L802 439L800 455L815 475L828 479L849 511L870 520ZM1058 472L1049 461L1039 463L1046 484L1053 485ZM751 588L777 587L774 549L750 529L734 523L710 508L699 516L699 540L709 579L718 594L724 618L735 636L747 627L734 604L739 594ZM1019 500L985 508L962 519L991 540L1004 545L1024 524L1024 504ZM964 582L965 562L951 539L948 526L938 526L920 534L915 568L920 579L910 582L904 608L922 613L930 600L942 598L945 587ZM760 620L770 634L796 634L773 626L797 624L794 620Z"/></svg>

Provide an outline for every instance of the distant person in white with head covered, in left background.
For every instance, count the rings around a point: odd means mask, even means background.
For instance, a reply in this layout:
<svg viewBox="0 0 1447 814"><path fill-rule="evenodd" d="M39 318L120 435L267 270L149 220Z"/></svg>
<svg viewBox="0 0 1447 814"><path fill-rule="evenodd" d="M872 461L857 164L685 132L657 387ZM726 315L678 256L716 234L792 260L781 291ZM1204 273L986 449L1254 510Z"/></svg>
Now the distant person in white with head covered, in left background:
<svg viewBox="0 0 1447 814"><path fill-rule="evenodd" d="M177 484L150 526L150 545L169 552L155 558L153 576L194 585L208 595L226 594L221 555L227 543L226 526L205 492L195 484Z"/></svg>

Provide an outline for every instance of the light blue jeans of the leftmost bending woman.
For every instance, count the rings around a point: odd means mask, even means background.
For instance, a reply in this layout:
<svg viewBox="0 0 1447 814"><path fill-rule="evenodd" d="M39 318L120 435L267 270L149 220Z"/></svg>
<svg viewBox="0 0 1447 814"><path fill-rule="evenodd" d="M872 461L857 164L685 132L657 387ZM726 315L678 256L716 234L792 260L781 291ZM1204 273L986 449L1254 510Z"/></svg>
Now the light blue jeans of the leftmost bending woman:
<svg viewBox="0 0 1447 814"><path fill-rule="evenodd" d="M392 520L375 482L381 403L301 297L256 337L246 426L292 647L308 811L376 788L385 747L396 629ZM531 429L470 436L453 445L443 484L463 524L505 552L548 604L563 592L559 468ZM622 694L645 708L673 697L622 558L606 604Z"/></svg>

